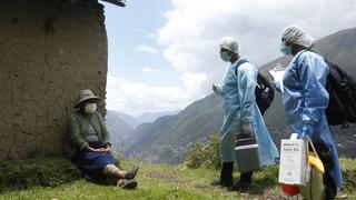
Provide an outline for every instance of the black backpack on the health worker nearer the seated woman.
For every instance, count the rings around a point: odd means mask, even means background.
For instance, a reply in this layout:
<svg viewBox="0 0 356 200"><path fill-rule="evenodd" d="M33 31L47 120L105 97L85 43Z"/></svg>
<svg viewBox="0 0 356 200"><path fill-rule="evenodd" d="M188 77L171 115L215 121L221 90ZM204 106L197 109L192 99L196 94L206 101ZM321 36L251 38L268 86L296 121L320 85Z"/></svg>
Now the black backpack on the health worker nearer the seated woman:
<svg viewBox="0 0 356 200"><path fill-rule="evenodd" d="M245 59L241 59L237 66L240 66L245 62L248 62ZM237 68L236 73L237 74ZM275 88L270 82L258 71L257 74L257 86L255 88L256 103L261 114L269 108L270 103L274 101Z"/></svg>

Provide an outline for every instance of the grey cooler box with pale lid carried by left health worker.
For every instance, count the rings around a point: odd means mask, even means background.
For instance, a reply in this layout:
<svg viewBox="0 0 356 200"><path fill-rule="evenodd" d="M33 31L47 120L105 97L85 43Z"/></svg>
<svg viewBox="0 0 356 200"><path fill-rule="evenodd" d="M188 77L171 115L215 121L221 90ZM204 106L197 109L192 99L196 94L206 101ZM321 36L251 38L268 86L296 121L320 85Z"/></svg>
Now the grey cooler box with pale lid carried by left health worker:
<svg viewBox="0 0 356 200"><path fill-rule="evenodd" d="M263 168L259 158L258 143L235 147L239 172L251 172Z"/></svg>

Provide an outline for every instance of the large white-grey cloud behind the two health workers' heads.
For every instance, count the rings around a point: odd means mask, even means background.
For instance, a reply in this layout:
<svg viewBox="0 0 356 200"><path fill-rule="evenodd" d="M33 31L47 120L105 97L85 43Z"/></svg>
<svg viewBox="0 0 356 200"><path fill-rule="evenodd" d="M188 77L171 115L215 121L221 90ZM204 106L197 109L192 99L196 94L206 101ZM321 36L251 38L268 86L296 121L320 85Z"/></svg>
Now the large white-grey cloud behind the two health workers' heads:
<svg viewBox="0 0 356 200"><path fill-rule="evenodd" d="M356 1L346 0L172 0L172 4L158 42L177 71L205 76L198 86L205 94L225 71L218 56L221 38L235 37L241 54L261 66L281 56L280 33L289 24L299 24L318 39L352 28L356 19Z"/></svg>

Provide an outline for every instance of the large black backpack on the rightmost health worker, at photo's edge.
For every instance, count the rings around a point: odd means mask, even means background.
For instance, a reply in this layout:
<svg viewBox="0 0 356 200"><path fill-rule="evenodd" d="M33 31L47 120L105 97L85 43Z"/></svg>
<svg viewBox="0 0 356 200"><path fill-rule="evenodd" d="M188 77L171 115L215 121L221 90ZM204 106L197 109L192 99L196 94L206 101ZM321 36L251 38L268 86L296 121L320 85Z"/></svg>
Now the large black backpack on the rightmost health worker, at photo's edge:
<svg viewBox="0 0 356 200"><path fill-rule="evenodd" d="M348 128L348 123L356 123L356 80L337 64L326 59L325 62L329 67L326 78L326 90L329 93L329 104L325 111L327 122Z"/></svg>

